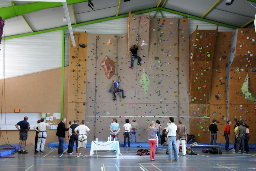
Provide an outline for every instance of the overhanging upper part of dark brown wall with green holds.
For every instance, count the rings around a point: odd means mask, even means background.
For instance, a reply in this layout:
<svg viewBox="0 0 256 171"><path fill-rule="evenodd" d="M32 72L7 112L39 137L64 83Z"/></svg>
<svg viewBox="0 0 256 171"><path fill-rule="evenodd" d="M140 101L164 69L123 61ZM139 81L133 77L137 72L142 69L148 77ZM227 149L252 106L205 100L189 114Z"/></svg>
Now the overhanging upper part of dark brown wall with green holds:
<svg viewBox="0 0 256 171"><path fill-rule="evenodd" d="M190 35L190 104L209 104L212 60L217 30L196 30Z"/></svg>

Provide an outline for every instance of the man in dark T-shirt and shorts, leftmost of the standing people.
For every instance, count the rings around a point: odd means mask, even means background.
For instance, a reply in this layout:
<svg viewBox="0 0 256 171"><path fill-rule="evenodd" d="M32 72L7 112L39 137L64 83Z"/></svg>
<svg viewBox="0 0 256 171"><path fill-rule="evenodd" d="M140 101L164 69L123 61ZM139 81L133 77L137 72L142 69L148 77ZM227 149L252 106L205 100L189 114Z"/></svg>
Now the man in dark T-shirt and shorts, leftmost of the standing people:
<svg viewBox="0 0 256 171"><path fill-rule="evenodd" d="M18 127L20 126L20 128ZM25 151L25 147L26 147L26 141L28 138L28 131L30 129L30 125L28 123L28 117L25 116L24 120L19 121L18 123L16 123L15 127L20 131L20 142L19 142L19 151L18 153L22 153L22 154L27 154L28 152ZM20 151L20 147L23 141L23 150Z"/></svg>

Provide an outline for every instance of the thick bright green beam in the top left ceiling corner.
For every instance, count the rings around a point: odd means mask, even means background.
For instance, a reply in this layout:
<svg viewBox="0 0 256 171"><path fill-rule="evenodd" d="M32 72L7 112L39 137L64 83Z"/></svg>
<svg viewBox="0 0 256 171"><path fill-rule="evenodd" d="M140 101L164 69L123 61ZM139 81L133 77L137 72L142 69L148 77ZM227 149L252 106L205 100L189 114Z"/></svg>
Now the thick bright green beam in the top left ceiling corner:
<svg viewBox="0 0 256 171"><path fill-rule="evenodd" d="M72 0L68 1L67 4L77 4L86 2L88 0ZM62 3L60 2L35 2L35 3L29 3L29 4L21 4L21 5L15 5L15 6L7 6L0 8L0 16L3 20L10 19L13 17L17 17L20 15L25 15L31 12L36 12L39 10L44 10L48 8L54 8L62 6Z"/></svg>

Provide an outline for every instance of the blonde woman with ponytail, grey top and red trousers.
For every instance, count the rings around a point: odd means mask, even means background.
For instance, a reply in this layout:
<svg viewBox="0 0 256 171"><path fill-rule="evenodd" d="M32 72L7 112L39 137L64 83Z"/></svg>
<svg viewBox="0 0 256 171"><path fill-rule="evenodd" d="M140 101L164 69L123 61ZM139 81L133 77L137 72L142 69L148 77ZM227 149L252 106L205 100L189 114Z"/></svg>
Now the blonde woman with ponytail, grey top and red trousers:
<svg viewBox="0 0 256 171"><path fill-rule="evenodd" d="M149 152L150 161L155 161L155 153L156 153L157 131L154 125L155 125L155 122L151 121L148 126L148 144L150 147L150 152Z"/></svg>

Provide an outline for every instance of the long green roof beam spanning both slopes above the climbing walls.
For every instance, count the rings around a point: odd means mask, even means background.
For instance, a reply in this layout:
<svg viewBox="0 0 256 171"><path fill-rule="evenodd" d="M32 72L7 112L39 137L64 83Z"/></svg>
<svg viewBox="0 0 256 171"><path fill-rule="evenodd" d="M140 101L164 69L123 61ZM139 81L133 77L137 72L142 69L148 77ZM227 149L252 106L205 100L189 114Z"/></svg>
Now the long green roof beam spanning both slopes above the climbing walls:
<svg viewBox="0 0 256 171"><path fill-rule="evenodd" d="M165 8L160 8L160 7L151 8L151 9L147 9L147 10L143 10L143 11L132 12L131 14L142 14L142 13L147 13L147 12L152 12L152 11L156 11L156 12L166 11L166 12L171 12L171 13L174 13L174 14L182 15L182 16L184 16L184 18L189 17L189 18L193 18L193 19L198 19L198 20L201 20L201 21L205 21L205 22L209 22L209 23L212 23L212 24L216 24L216 25L220 25L220 26L224 26L224 27L228 27L228 28L233 28L233 29L239 28L239 27L236 27L236 26L231 26L231 25L228 25L228 24L219 23L219 22L212 21L212 20L209 20L209 19L202 19L200 17L196 17L196 16L192 16L192 15L188 16L188 14L185 14L185 13L181 13L181 12L177 12L177 11L173 11L173 10L169 10L169 9L165 9ZM72 27L79 27L79 26L84 26L84 25L88 25L88 24L108 21L108 20L112 20L112 19L124 18L124 17L128 17L128 16L129 16L129 13L119 15L119 16L113 16L113 17L108 17L108 18L104 18L104 19L97 19L97 20L93 20L93 21L79 23L79 24L72 25ZM25 33L25 34L20 34L20 35L3 37L2 39L3 40L8 40L8 39L24 37L24 36L29 36L29 35L36 35L36 34L41 34L41 33L47 33L47 32L51 32L51 31L62 30L62 29L67 29L67 28L68 28L68 26L56 27L56 28L51 28L51 29L42 30L42 31L35 31L34 33Z"/></svg>

